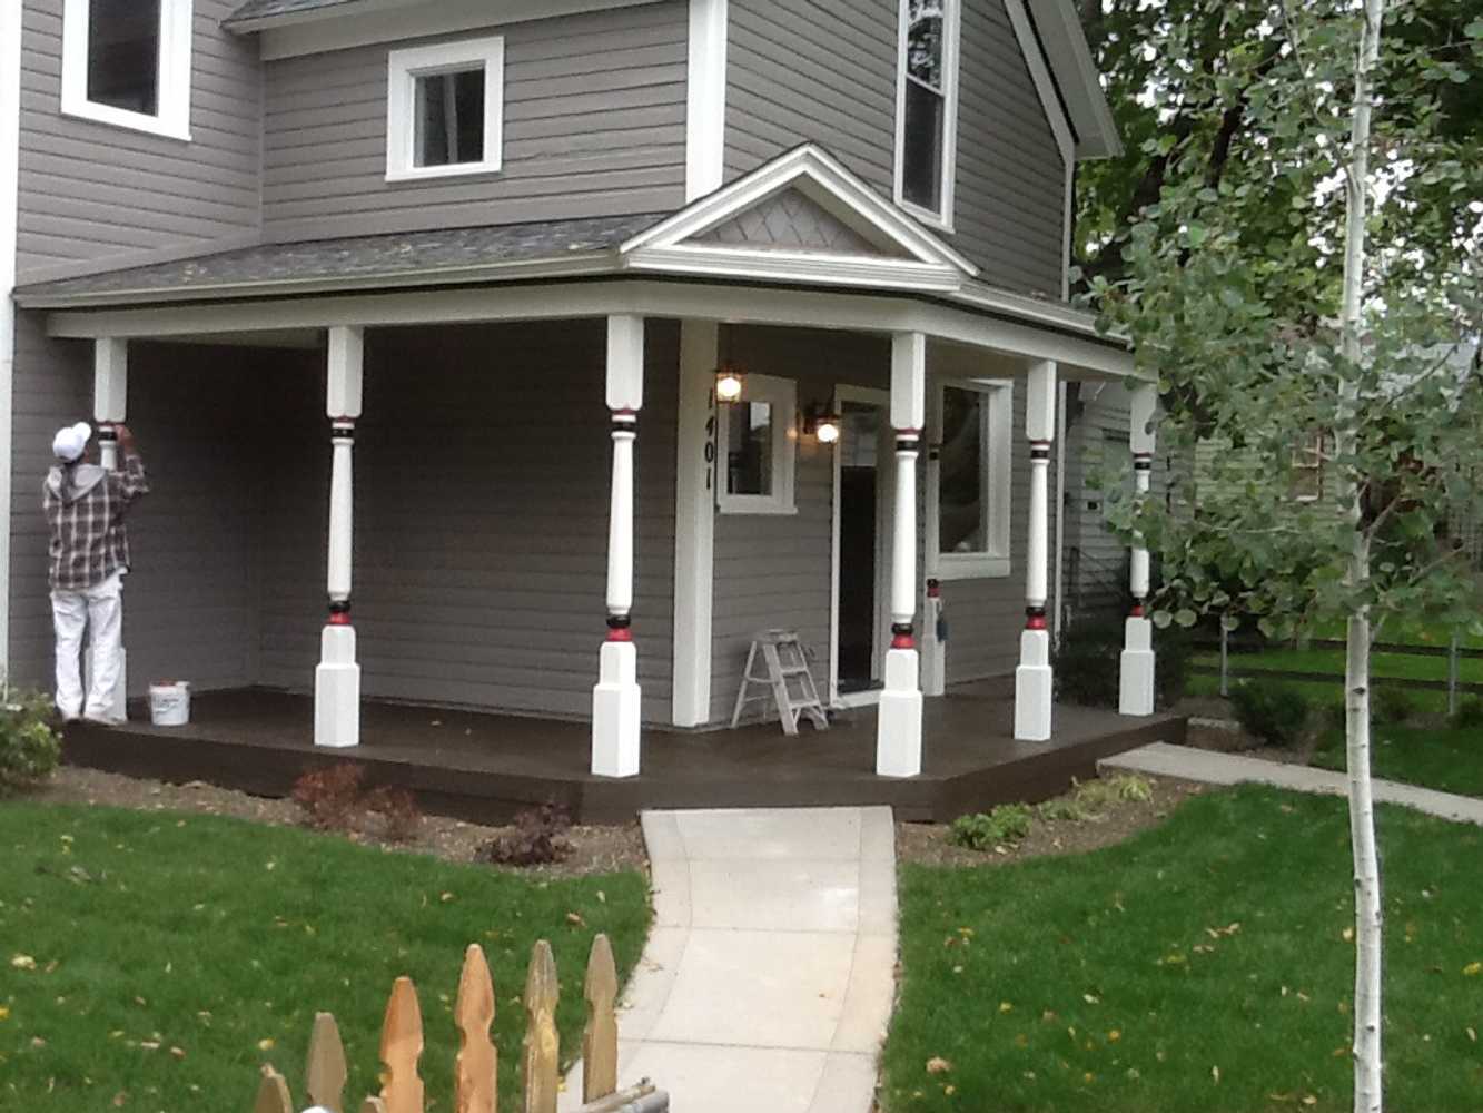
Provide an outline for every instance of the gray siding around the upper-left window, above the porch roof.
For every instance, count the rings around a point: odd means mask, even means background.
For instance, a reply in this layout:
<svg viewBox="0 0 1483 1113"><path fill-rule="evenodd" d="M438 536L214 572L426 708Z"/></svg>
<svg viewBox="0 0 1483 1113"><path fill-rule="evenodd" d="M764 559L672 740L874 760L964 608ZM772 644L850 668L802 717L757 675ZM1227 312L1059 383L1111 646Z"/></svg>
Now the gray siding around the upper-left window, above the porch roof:
<svg viewBox="0 0 1483 1113"><path fill-rule="evenodd" d="M12 0L18 1L18 0ZM258 229L261 67L196 0L191 141L61 114L62 0L25 0L19 278L37 269L199 246Z"/></svg>

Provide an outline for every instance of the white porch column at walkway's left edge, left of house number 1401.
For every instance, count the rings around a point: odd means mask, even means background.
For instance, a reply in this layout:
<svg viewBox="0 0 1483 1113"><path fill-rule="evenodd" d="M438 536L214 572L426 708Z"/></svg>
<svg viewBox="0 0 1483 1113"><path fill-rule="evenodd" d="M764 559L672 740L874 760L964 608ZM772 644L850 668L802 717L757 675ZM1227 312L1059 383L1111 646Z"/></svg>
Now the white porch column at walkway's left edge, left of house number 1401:
<svg viewBox="0 0 1483 1113"><path fill-rule="evenodd" d="M639 681L633 646L633 441L644 407L644 318L608 318L612 502L608 513L608 640L592 690L593 776L639 772Z"/></svg>

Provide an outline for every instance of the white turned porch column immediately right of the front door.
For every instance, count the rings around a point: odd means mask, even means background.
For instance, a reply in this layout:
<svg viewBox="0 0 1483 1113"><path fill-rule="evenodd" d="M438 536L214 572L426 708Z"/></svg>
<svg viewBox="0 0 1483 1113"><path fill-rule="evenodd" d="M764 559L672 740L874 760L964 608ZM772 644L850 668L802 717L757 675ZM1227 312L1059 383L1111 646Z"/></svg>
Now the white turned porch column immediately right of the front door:
<svg viewBox="0 0 1483 1113"><path fill-rule="evenodd" d="M891 426L896 429L896 502L891 509L891 647L875 727L875 772L922 772L922 693L912 637L916 617L916 453L927 420L927 337L891 337Z"/></svg>

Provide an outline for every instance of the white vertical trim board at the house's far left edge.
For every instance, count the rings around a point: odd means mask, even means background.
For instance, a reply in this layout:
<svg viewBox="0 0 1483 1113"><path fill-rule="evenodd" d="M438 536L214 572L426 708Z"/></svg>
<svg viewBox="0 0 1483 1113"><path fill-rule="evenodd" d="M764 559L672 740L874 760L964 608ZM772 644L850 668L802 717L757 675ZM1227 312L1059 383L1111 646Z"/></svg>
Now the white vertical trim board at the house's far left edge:
<svg viewBox="0 0 1483 1113"><path fill-rule="evenodd" d="M21 187L21 9L0 1L0 678L10 675L10 484L15 411L15 267Z"/></svg>

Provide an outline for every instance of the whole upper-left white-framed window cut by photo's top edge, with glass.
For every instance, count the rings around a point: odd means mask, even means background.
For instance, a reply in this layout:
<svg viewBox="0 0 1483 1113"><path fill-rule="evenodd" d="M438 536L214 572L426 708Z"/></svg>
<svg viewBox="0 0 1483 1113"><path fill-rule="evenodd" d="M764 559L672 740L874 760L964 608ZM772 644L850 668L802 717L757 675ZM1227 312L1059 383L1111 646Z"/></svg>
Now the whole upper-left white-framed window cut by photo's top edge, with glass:
<svg viewBox="0 0 1483 1113"><path fill-rule="evenodd" d="M65 0L62 113L190 139L191 0Z"/></svg>

